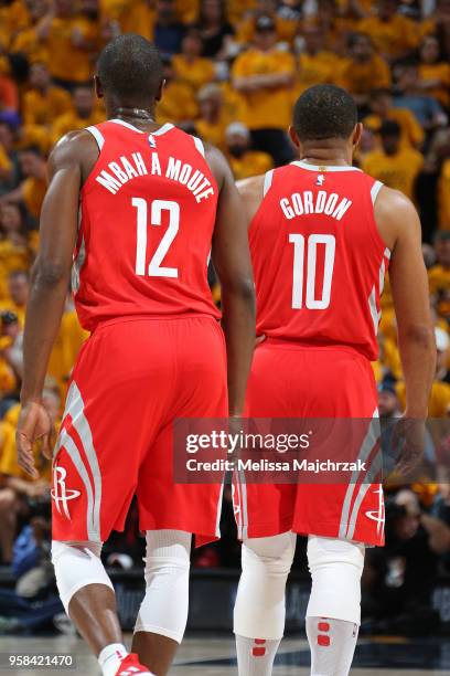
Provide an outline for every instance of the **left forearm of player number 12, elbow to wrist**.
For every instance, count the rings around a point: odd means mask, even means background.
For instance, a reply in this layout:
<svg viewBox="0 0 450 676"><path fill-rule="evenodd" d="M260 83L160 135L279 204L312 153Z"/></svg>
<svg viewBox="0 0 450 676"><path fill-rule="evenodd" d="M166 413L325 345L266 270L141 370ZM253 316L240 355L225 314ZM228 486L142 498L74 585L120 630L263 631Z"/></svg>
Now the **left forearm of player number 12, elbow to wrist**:
<svg viewBox="0 0 450 676"><path fill-rule="evenodd" d="M68 272L36 266L23 335L22 404L40 401L50 355L60 328L68 287Z"/></svg>

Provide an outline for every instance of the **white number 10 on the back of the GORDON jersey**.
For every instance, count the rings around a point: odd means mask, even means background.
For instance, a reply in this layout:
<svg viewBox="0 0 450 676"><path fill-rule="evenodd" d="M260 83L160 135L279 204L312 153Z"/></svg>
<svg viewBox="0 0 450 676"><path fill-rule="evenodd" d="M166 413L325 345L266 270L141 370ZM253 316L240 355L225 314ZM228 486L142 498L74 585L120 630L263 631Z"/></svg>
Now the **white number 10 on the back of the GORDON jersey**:
<svg viewBox="0 0 450 676"><path fill-rule="evenodd" d="M325 309L330 305L331 284L333 281L334 252L336 241L333 235L310 235L306 241L301 234L290 234L289 242L293 244L293 279L292 279L292 308ZM315 267L318 244L325 247L325 262L323 265L322 297L315 298ZM304 294L304 250L308 250L307 262L307 293Z"/></svg>

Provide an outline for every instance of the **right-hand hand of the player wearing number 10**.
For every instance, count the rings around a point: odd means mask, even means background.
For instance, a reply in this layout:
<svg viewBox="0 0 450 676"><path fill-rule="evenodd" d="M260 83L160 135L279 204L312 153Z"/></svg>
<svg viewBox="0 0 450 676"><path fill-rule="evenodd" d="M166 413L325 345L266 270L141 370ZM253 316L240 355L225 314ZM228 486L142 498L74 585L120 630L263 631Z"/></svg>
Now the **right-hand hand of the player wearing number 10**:
<svg viewBox="0 0 450 676"><path fill-rule="evenodd" d="M392 446L395 454L395 469L404 477L418 467L425 454L426 419L408 418L405 414L395 424Z"/></svg>

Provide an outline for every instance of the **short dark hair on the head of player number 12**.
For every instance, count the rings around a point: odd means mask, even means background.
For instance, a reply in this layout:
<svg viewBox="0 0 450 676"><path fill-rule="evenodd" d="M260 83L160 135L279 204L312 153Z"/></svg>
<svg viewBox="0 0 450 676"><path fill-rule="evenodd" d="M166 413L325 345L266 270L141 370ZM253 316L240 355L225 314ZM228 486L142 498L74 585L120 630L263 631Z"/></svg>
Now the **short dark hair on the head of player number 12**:
<svg viewBox="0 0 450 676"><path fill-rule="evenodd" d="M135 33L111 40L103 50L97 75L106 94L128 105L153 99L162 81L162 61L156 45Z"/></svg>

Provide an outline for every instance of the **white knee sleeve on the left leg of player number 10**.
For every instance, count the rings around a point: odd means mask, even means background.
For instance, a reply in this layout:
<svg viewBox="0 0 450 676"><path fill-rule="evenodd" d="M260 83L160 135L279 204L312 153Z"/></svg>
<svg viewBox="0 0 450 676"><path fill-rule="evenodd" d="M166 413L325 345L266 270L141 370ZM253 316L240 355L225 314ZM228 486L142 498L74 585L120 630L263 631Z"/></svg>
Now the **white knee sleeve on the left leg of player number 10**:
<svg viewBox="0 0 450 676"><path fill-rule="evenodd" d="M286 580L296 552L296 534L243 542L243 573L234 609L234 632L247 638L281 638Z"/></svg>

